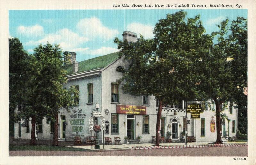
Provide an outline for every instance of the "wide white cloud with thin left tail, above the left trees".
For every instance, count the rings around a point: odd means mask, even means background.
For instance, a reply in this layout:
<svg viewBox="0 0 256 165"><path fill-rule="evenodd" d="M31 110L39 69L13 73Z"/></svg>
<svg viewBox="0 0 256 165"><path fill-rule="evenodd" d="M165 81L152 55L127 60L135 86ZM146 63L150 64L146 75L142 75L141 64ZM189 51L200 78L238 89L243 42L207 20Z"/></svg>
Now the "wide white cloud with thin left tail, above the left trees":
<svg viewBox="0 0 256 165"><path fill-rule="evenodd" d="M77 33L69 29L60 29L55 34L47 34L44 38L37 41L28 41L24 43L25 46L37 46L39 44L60 44L63 51L70 51L75 49L78 45L87 42L88 38L81 37Z"/></svg>

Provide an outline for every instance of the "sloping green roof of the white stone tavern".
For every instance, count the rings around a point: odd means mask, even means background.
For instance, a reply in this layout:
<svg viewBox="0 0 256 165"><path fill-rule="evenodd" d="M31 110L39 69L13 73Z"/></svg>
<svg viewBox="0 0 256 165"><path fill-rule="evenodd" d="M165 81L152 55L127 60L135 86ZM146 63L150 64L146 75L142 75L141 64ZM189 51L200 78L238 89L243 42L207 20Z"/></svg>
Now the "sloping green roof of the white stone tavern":
<svg viewBox="0 0 256 165"><path fill-rule="evenodd" d="M97 68L104 68L118 59L118 52L110 53L108 55L91 58L85 61L81 61L78 64L79 70L76 73L90 71ZM73 65L69 65L67 68L68 75L73 73Z"/></svg>

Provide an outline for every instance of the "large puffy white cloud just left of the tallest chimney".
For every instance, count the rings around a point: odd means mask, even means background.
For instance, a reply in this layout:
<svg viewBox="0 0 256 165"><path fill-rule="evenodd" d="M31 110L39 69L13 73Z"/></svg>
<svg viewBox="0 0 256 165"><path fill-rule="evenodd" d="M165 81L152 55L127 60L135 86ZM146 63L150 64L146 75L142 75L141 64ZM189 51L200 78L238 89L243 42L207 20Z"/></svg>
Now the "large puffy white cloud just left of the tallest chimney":
<svg viewBox="0 0 256 165"><path fill-rule="evenodd" d="M96 17L79 20L76 28L90 39L102 38L103 41L113 40L119 34L116 29L109 29L104 26Z"/></svg>

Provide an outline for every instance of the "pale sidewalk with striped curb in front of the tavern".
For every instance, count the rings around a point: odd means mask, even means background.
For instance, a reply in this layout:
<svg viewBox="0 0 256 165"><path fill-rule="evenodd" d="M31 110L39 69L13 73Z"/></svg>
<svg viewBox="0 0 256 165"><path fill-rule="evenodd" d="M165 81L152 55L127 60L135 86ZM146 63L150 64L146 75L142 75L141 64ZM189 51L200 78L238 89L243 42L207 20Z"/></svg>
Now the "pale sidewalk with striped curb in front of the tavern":
<svg viewBox="0 0 256 165"><path fill-rule="evenodd" d="M214 147L214 146L238 146L247 145L247 142L224 142L221 145L214 145L213 142L195 142L195 143L160 143L161 146L155 147L153 143L142 143L142 144L120 144L120 145L100 145L100 150L97 151L116 151L116 150L134 150L134 149L159 149L159 148L192 148L192 147ZM95 150L94 145L84 145L84 146L67 146L74 148L83 148L88 150Z"/></svg>

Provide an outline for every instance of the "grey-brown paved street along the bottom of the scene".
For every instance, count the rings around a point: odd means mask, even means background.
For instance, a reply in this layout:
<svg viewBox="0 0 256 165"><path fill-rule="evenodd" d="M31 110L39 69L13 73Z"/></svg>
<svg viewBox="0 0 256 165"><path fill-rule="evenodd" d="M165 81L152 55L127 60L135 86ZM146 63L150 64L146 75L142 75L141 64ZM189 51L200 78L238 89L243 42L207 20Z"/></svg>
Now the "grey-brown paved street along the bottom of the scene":
<svg viewBox="0 0 256 165"><path fill-rule="evenodd" d="M10 156L247 156L247 146L124 151L9 151Z"/></svg>

